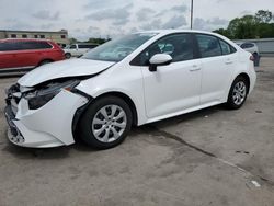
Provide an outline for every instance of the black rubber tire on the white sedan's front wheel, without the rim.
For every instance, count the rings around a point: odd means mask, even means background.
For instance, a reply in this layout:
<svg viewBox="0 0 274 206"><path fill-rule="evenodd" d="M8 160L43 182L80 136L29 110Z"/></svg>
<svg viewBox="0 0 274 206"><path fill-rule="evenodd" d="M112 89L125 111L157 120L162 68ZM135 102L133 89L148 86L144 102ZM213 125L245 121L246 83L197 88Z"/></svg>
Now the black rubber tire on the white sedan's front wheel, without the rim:
<svg viewBox="0 0 274 206"><path fill-rule="evenodd" d="M123 110L123 112L126 115L126 123L125 123L126 126L125 128L123 128L124 131L119 135L117 139L111 142L103 142L99 140L93 134L93 119L95 115L100 113L99 111L101 108L104 108L107 105L116 105ZM133 124L133 114L132 114L130 107L124 100L117 96L103 96L103 98L100 98L99 100L95 100L94 103L92 103L82 115L78 125L78 135L85 144L88 144L94 149L110 149L122 144L125 140L126 136L128 135L132 128L132 124ZM103 127L106 124L104 125L102 124L101 126ZM109 127L115 127L115 126L111 125ZM103 135L105 133L106 130L104 129ZM109 131L109 133L114 136L114 133L112 131Z"/></svg>

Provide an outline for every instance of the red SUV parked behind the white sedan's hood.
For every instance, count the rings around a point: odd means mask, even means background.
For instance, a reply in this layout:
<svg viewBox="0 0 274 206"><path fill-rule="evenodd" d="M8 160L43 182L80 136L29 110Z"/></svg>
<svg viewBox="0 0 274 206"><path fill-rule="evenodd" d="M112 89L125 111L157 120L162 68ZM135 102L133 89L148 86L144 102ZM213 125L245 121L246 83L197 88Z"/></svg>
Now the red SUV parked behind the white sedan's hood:
<svg viewBox="0 0 274 206"><path fill-rule="evenodd" d="M62 49L52 41L0 39L0 73L27 71L62 59Z"/></svg>

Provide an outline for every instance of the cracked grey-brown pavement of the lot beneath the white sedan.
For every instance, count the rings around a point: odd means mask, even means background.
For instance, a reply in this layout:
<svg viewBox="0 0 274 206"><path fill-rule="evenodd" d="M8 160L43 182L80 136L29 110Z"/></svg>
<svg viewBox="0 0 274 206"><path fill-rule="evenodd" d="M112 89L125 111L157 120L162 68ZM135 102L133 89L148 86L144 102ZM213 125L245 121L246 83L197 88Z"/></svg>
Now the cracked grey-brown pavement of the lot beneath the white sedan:
<svg viewBox="0 0 274 206"><path fill-rule="evenodd" d="M274 58L239 111L215 106L135 128L119 147L19 148L0 79L0 205L274 205Z"/></svg>

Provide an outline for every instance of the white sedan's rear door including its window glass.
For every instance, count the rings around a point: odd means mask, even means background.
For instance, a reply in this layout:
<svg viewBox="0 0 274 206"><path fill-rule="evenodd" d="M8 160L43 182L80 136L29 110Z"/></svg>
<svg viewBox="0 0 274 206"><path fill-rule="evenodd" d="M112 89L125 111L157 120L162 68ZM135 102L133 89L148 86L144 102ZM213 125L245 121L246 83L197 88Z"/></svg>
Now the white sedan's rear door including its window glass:
<svg viewBox="0 0 274 206"><path fill-rule="evenodd" d="M196 34L202 60L201 104L219 103L227 95L233 72L236 54L225 41L207 34Z"/></svg>

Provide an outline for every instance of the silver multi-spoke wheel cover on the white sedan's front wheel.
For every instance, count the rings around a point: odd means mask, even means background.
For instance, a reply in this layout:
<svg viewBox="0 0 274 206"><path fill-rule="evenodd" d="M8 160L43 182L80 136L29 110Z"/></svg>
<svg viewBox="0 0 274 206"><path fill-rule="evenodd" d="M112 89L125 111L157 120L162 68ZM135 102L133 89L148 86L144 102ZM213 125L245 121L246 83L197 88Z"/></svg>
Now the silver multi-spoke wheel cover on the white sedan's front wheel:
<svg viewBox="0 0 274 206"><path fill-rule="evenodd" d="M101 142L113 142L125 131L127 117L118 105L106 105L100 108L92 119L92 133Z"/></svg>

